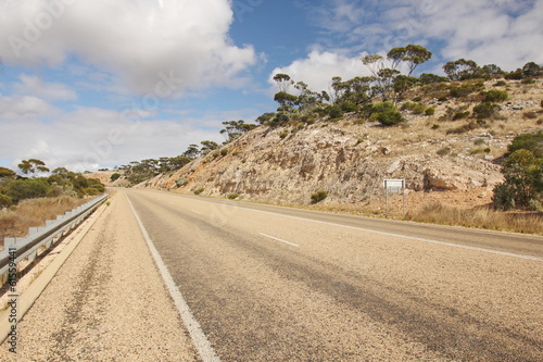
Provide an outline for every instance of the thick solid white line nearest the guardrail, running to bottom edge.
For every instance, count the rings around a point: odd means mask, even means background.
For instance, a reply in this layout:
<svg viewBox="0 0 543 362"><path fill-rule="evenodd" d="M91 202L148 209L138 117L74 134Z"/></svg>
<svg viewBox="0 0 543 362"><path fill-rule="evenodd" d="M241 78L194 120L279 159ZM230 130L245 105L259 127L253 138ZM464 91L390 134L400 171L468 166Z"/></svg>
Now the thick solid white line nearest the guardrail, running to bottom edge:
<svg viewBox="0 0 543 362"><path fill-rule="evenodd" d="M138 222L138 225L141 229L141 234L143 235L143 238L147 241L147 245L149 247L149 250L151 251L151 254L153 255L154 262L156 263L156 266L159 267L159 271L161 272L162 278L164 279L164 283L166 284L166 287L168 288L169 295L174 299L174 302L177 307L177 310L179 311L179 314L181 315L182 322L185 323L185 326L189 330L190 337L192 338L192 341L194 342L194 347L197 348L198 352L200 353L200 357L204 362L220 362L220 359L217 357L215 353L215 350L210 344L210 340L205 336L205 334L202 330L202 327L198 323L197 319L190 311L189 304L187 304L187 301L185 301L185 298L181 295L181 291L177 287L177 285L174 282L174 278L169 274L167 266L164 264L164 261L161 258L161 254L154 247L153 241L151 240L151 237L149 236L149 233L147 232L146 227L143 226L143 223L141 223L141 220L138 216L138 213L136 212L136 209L134 209L132 203L130 202L130 199L128 196L126 197L128 200L128 203L130 204L130 208L132 210L134 215L136 216L136 221Z"/></svg>

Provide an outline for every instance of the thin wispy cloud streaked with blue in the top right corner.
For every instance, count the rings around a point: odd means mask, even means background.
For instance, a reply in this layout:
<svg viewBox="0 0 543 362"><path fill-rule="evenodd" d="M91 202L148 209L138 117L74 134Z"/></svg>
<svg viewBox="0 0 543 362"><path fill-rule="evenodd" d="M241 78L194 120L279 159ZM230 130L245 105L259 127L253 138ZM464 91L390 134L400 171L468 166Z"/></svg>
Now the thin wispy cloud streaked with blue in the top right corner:
<svg viewBox="0 0 543 362"><path fill-rule="evenodd" d="M443 62L466 58L506 71L543 63L543 0L333 0L315 13L327 49L419 43Z"/></svg>

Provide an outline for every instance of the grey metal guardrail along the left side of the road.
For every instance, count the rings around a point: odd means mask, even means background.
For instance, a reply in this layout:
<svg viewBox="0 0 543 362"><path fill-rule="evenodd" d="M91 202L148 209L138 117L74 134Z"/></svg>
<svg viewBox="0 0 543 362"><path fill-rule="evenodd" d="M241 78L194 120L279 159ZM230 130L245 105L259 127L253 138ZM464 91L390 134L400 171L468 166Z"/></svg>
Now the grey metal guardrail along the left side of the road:
<svg viewBox="0 0 543 362"><path fill-rule="evenodd" d="M4 238L3 250L0 251L0 285L9 280L10 270L13 270L14 264L25 259L33 261L39 248L45 246L49 249L55 239L75 228L106 199L108 195L102 195L64 215L56 216L56 220L48 220L43 227L30 227L27 237Z"/></svg>

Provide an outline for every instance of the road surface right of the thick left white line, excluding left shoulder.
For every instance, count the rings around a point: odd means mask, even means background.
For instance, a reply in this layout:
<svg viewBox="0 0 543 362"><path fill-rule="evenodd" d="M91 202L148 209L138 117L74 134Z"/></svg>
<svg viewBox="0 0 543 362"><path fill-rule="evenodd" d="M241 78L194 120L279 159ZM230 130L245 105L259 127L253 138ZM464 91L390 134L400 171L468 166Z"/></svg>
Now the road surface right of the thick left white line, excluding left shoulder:
<svg viewBox="0 0 543 362"><path fill-rule="evenodd" d="M222 361L543 361L541 237L124 192Z"/></svg>

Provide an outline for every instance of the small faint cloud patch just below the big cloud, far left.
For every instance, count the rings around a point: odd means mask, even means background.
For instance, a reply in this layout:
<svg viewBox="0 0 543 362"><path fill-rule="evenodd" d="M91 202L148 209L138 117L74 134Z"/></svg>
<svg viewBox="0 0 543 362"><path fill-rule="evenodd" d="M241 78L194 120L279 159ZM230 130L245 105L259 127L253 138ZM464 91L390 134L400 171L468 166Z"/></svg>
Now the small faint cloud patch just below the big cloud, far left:
<svg viewBox="0 0 543 362"><path fill-rule="evenodd" d="M62 83L46 83L37 76L23 74L14 85L18 95L35 96L45 100L75 100L77 93Z"/></svg>

